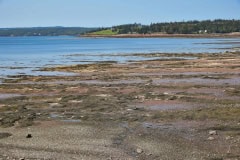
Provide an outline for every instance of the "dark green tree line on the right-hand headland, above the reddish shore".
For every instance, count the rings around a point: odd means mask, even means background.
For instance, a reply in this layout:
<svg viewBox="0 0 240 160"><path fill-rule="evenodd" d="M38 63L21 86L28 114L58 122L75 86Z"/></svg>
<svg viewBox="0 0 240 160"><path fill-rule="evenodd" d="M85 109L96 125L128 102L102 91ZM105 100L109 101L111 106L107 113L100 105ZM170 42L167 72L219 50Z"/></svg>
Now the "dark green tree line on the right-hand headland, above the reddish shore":
<svg viewBox="0 0 240 160"><path fill-rule="evenodd" d="M240 32L240 20L205 20L187 22L152 23L141 25L138 23L113 26L113 31L119 34L129 33L168 33L168 34L204 34L204 33L232 33Z"/></svg>

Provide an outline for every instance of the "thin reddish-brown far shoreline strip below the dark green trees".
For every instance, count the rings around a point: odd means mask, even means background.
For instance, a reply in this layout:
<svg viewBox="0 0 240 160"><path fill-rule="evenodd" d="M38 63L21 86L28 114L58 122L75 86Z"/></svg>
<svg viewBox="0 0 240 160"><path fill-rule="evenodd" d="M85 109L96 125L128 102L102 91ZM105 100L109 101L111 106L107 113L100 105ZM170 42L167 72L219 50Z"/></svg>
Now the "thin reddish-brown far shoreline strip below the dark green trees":
<svg viewBox="0 0 240 160"><path fill-rule="evenodd" d="M116 34L116 35L98 35L88 34L80 37L92 38L240 38L240 32L237 33L214 33L214 34Z"/></svg>

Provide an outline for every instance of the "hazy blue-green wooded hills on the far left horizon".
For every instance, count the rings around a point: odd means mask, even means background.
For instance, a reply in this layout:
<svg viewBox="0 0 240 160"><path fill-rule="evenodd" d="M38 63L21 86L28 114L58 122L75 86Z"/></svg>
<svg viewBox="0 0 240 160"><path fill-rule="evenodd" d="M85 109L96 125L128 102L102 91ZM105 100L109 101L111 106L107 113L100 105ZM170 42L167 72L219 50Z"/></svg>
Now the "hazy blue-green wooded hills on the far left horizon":
<svg viewBox="0 0 240 160"><path fill-rule="evenodd" d="M0 36L78 36L95 29L83 27L0 28Z"/></svg>

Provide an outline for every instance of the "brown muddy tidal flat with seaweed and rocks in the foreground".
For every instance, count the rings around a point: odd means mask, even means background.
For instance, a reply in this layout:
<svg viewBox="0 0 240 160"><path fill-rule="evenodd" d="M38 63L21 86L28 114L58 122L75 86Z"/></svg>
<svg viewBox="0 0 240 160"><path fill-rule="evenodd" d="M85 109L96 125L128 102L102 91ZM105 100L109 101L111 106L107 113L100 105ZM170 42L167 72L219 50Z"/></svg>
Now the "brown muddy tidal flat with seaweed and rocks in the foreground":
<svg viewBox="0 0 240 160"><path fill-rule="evenodd" d="M239 52L136 56L2 79L0 159L240 159Z"/></svg>

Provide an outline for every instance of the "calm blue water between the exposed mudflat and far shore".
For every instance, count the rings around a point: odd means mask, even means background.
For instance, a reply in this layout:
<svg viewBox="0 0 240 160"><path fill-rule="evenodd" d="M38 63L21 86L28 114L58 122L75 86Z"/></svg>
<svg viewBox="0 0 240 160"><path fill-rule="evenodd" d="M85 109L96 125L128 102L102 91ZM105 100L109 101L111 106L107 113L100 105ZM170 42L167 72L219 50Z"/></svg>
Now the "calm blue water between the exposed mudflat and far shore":
<svg viewBox="0 0 240 160"><path fill-rule="evenodd" d="M225 52L239 47L236 42L240 42L240 38L0 37L0 78L19 74L62 74L35 71L46 66L146 59L122 54Z"/></svg>

